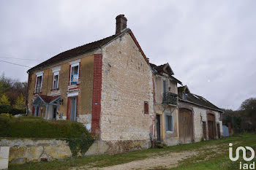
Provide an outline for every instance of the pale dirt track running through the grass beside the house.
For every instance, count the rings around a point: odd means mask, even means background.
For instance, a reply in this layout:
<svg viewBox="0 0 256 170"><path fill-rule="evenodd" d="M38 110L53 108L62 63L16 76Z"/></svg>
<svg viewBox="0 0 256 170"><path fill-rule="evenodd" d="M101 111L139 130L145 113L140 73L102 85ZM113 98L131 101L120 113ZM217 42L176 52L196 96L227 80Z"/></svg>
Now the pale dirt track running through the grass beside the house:
<svg viewBox="0 0 256 170"><path fill-rule="evenodd" d="M171 169L178 166L178 163L181 163L184 159L187 161L205 161L214 155L218 155L221 152L224 152L222 149L227 144L211 144L208 146L199 147L195 150L187 150L181 152L173 152L173 151L164 151L152 153L149 158L131 161L129 163L118 164L115 166L107 166L103 168L92 168L93 164L74 167L70 170L82 170L82 169L92 169L92 170L129 170L129 169ZM202 157L202 158L200 158ZM198 158L198 160L196 159ZM97 163L96 163L97 164Z"/></svg>

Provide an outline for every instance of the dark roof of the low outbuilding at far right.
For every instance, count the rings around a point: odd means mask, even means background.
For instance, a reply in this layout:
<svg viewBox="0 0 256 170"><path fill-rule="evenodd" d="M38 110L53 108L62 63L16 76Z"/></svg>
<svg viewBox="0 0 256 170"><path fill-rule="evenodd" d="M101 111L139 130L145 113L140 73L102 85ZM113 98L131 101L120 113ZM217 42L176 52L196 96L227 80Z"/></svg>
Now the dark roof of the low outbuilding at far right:
<svg viewBox="0 0 256 170"><path fill-rule="evenodd" d="M206 100L206 98L203 98L202 96L198 96L196 94L190 93L189 90L186 90L186 92L184 92L185 98L183 98L182 91L184 91L185 88L187 88L187 85L178 87L178 97L183 99L184 101L190 101L194 104L199 104L203 107L209 107L211 109L222 110L222 109L219 109L219 107L212 104L210 101Z"/></svg>

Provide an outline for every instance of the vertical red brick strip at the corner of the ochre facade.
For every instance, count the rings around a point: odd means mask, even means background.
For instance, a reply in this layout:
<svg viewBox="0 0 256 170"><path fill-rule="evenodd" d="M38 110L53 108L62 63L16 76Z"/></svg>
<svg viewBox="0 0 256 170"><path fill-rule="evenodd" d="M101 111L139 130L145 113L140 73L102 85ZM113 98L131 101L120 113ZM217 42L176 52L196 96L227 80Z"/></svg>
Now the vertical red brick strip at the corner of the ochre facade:
<svg viewBox="0 0 256 170"><path fill-rule="evenodd" d="M102 54L94 55L94 82L92 92L92 114L91 131L100 133L99 119L101 112L101 92L102 92Z"/></svg>

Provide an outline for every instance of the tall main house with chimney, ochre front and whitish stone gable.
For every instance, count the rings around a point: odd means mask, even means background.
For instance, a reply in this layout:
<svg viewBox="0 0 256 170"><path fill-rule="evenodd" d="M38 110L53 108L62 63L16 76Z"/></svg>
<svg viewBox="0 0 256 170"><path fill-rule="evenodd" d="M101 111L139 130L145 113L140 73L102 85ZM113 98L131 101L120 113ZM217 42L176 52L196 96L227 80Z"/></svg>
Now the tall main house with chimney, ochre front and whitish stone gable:
<svg viewBox="0 0 256 170"><path fill-rule="evenodd" d="M152 72L124 15L116 17L113 36L60 53L28 73L30 115L75 120L102 141L150 147Z"/></svg>

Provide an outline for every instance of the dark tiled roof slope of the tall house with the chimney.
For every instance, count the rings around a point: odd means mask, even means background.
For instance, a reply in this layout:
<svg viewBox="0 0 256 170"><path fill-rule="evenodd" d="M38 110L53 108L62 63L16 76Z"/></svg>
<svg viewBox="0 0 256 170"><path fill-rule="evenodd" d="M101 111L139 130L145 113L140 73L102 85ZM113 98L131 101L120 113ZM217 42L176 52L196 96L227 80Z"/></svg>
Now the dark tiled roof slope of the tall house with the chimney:
<svg viewBox="0 0 256 170"><path fill-rule="evenodd" d="M129 31L129 28L127 28L126 31L121 32L121 34L124 34L124 32L127 32L127 31ZM39 69L43 66L48 66L52 63L57 63L59 61L64 61L68 58L73 58L73 57L76 57L78 55L82 55L84 53L89 53L93 50L97 50L99 47L102 47L103 45L106 45L108 42L112 41L113 39L120 36L121 34L115 34L113 36L108 36L105 39L100 39L99 41L91 42L89 44L82 45L82 46L79 46L79 47L75 47L71 50L64 51L63 53L59 53L58 55L53 56L52 58L48 59L47 61L44 61L42 63L39 63L37 66L32 67L31 69L29 69L28 72L30 72L31 70L34 70L34 69Z"/></svg>

